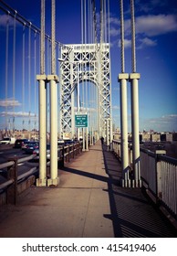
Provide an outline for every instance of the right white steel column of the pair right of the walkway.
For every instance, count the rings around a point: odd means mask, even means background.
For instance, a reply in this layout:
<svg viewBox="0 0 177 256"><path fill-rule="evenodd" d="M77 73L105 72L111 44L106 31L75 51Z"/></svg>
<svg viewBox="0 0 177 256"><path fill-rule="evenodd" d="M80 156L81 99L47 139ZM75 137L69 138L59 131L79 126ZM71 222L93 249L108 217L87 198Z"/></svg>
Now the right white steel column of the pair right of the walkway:
<svg viewBox="0 0 177 256"><path fill-rule="evenodd" d="M140 73L130 74L131 87L131 130L132 130L132 164L134 170L134 186L141 187L140 170L140 135L139 135L139 88Z"/></svg>

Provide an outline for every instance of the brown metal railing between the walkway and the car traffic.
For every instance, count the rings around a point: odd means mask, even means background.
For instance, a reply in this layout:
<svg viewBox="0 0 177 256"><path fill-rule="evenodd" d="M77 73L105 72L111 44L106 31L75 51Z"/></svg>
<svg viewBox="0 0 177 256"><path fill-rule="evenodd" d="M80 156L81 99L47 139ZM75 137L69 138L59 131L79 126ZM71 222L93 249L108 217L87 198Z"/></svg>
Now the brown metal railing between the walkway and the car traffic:
<svg viewBox="0 0 177 256"><path fill-rule="evenodd" d="M66 162L69 162L71 159L74 159L78 154L82 152L82 143L68 144L58 148L58 162L61 163L62 166L65 165ZM17 195L20 194L19 190L22 192L24 189L19 189L19 184L22 181L32 176L31 183L35 184L35 176L38 172L38 165L26 171L26 173L22 175L18 175L18 164L25 163L32 159L35 159L36 155L30 155L22 158L18 158L17 156L11 157L8 159L8 162L0 164L0 170L4 170L5 181L0 184L0 195L5 192L5 197L2 199L0 197L0 205L4 204L1 201L5 201L6 204L15 204ZM47 161L47 167L50 165L50 161ZM29 183L29 182L28 182ZM31 184L29 184L31 185Z"/></svg>

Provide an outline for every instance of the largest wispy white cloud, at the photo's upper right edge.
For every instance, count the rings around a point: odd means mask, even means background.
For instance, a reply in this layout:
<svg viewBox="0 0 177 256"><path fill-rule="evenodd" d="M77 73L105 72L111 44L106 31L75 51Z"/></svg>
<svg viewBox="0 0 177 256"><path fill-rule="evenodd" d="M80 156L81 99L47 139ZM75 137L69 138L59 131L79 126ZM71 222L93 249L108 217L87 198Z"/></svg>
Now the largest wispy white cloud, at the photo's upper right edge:
<svg viewBox="0 0 177 256"><path fill-rule="evenodd" d="M177 31L174 15L139 16L136 18L136 33L148 37L160 36Z"/></svg>

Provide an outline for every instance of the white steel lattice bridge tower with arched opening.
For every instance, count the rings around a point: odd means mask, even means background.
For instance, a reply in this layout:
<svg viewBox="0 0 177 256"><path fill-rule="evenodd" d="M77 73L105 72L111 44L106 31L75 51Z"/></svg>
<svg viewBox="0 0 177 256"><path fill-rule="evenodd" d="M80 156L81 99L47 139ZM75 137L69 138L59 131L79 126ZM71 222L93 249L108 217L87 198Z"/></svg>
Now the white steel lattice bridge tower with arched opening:
<svg viewBox="0 0 177 256"><path fill-rule="evenodd" d="M111 129L111 86L109 66L109 44L67 45L61 49L60 64L60 127L63 133L75 133L74 106L78 84L88 81L97 88L99 136L109 133ZM69 48L69 50L68 50ZM79 111L79 110L77 110Z"/></svg>

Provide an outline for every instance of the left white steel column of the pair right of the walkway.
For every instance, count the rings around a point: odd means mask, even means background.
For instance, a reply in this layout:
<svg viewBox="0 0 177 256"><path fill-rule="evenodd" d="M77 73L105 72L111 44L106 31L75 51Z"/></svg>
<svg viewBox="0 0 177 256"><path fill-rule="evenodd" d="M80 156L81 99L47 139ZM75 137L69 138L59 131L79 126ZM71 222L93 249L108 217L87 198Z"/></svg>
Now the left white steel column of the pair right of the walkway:
<svg viewBox="0 0 177 256"><path fill-rule="evenodd" d="M122 187L130 187L128 154L127 80L129 74L119 74L120 81L120 133Z"/></svg>

